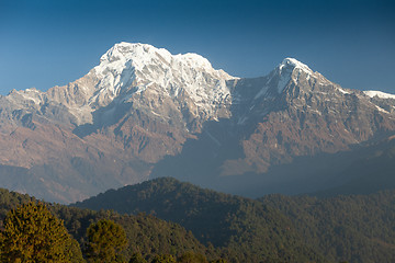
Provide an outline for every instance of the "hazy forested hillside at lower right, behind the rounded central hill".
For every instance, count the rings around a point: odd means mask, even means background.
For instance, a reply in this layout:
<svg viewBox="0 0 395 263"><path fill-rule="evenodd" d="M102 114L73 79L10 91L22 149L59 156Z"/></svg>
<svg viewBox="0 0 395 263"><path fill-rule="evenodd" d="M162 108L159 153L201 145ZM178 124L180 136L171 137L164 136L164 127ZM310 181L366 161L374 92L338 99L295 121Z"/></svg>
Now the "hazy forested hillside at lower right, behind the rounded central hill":
<svg viewBox="0 0 395 263"><path fill-rule="evenodd" d="M331 198L269 195L303 239L329 260L395 262L395 190Z"/></svg>

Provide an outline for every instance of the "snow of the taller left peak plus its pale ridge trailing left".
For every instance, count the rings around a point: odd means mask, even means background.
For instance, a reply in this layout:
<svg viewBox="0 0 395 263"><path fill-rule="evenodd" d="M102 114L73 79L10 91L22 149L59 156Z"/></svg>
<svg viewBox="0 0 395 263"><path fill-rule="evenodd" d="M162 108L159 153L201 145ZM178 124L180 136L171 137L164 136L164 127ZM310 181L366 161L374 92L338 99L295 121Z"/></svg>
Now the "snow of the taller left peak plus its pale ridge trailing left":
<svg viewBox="0 0 395 263"><path fill-rule="evenodd" d="M219 112L224 112L221 108L232 101L226 84L232 79L238 78L214 69L198 54L172 55L148 44L121 42L101 56L100 64L81 79L47 92L15 91L8 100L35 110L54 102L66 106L78 125L92 123L92 113L112 102L151 105L146 111L161 112L163 118L188 104L193 116L217 119ZM160 103L153 105L154 100ZM165 104L172 104L172 110L167 107L165 113L159 108Z"/></svg>

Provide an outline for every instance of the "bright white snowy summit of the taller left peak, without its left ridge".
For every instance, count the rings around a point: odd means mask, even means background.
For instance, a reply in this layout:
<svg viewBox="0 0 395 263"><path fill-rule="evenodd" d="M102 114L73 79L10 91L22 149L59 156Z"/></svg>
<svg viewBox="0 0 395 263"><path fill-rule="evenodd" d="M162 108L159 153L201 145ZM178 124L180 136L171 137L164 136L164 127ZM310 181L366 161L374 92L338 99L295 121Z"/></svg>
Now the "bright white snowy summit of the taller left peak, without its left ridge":
<svg viewBox="0 0 395 263"><path fill-rule="evenodd" d="M147 89L176 98L184 90L198 107L206 110L229 94L225 81L237 79L214 69L198 54L171 55L165 48L125 42L115 44L101 57L94 75L100 83L91 102L101 98L112 101L121 93L131 98Z"/></svg>

